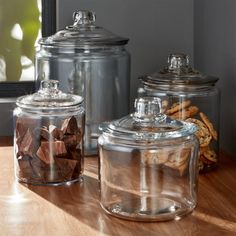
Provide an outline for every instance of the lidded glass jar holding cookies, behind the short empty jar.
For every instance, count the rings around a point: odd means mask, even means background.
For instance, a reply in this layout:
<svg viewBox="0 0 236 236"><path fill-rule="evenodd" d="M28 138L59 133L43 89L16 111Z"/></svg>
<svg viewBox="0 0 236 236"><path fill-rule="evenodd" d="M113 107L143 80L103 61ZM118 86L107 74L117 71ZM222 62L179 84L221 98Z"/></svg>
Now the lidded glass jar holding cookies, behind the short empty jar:
<svg viewBox="0 0 236 236"><path fill-rule="evenodd" d="M218 78L191 68L185 54L171 54L160 72L141 78L140 96L162 100L162 112L173 119L193 122L200 142L199 171L214 169L219 157L220 93Z"/></svg>

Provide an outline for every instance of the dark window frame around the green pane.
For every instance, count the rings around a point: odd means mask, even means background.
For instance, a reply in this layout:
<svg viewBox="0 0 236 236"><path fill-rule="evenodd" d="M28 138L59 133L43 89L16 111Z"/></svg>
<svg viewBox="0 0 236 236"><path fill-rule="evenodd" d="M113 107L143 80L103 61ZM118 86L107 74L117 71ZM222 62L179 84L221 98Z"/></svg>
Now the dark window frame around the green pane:
<svg viewBox="0 0 236 236"><path fill-rule="evenodd" d="M42 1L42 37L56 32L56 0ZM35 92L35 81L0 82L0 99L19 97Z"/></svg>

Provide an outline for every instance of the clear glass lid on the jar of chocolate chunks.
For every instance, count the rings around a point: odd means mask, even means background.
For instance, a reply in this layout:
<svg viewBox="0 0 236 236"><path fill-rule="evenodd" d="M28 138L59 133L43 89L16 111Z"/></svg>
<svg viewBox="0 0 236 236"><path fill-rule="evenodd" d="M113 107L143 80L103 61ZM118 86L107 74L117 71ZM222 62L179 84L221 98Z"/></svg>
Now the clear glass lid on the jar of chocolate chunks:
<svg viewBox="0 0 236 236"><path fill-rule="evenodd" d="M38 92L19 97L16 104L31 110L68 109L81 106L82 97L63 93L58 86L59 81L57 80L43 80Z"/></svg>

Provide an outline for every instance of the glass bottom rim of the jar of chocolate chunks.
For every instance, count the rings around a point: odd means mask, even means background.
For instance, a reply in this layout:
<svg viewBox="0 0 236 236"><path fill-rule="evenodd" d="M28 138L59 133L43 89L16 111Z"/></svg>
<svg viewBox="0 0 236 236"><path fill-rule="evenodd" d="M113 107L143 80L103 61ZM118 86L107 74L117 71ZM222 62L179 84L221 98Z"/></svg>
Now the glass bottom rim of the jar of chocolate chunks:
<svg viewBox="0 0 236 236"><path fill-rule="evenodd" d="M19 183L23 183L23 184L30 184L30 185L38 185L38 186L61 186L61 185L71 185L73 183L82 183L84 178L83 176L78 177L77 179L73 179L73 180L68 180L68 181L64 181L64 182L38 182L38 181L34 181L34 180L26 180L26 179L19 179L17 178Z"/></svg>

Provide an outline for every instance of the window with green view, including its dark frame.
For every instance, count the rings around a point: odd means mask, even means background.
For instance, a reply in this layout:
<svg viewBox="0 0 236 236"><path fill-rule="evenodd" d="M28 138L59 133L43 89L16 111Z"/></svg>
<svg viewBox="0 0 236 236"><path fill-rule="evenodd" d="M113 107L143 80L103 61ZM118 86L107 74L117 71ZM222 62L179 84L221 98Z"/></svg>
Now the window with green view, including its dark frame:
<svg viewBox="0 0 236 236"><path fill-rule="evenodd" d="M56 0L0 0L0 98L34 91L35 44L55 31Z"/></svg>

